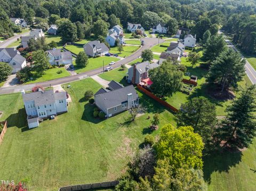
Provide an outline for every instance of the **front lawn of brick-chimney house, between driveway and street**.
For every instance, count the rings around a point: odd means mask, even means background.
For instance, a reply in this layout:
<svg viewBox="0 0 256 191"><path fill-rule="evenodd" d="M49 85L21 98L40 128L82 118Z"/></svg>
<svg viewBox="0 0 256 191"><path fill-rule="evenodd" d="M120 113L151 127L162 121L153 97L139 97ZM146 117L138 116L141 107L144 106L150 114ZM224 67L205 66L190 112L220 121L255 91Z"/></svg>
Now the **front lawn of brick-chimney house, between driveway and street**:
<svg viewBox="0 0 256 191"><path fill-rule="evenodd" d="M129 85L127 83L127 81L125 80L127 71L128 71L127 68L125 68L125 70L123 70L122 68L117 68L117 69L110 70L105 73L101 73L98 76L101 77L102 79L105 79L108 81L115 80L115 81L119 82L120 84L127 86L127 85Z"/></svg>

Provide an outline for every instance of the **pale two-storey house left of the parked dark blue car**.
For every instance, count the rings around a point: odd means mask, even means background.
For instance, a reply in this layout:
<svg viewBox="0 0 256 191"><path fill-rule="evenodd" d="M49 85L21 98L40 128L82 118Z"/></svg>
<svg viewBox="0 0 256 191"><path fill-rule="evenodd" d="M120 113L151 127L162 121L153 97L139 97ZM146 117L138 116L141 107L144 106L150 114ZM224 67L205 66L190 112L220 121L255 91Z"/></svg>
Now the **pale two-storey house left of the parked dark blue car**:
<svg viewBox="0 0 256 191"><path fill-rule="evenodd" d="M61 52L61 49L53 48L52 50L45 51L45 52L48 55L49 62L51 65L72 63L72 54L69 51Z"/></svg>

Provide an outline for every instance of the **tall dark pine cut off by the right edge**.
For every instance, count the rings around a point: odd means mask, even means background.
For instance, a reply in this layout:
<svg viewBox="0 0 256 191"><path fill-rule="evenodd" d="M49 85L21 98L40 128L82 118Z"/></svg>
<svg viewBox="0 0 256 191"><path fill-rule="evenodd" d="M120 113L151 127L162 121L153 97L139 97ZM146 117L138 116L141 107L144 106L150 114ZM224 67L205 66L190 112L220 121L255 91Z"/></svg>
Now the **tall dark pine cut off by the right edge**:
<svg viewBox="0 0 256 191"><path fill-rule="evenodd" d="M242 89L239 96L227 107L227 117L218 128L218 137L231 147L248 147L256 130L256 87Z"/></svg>

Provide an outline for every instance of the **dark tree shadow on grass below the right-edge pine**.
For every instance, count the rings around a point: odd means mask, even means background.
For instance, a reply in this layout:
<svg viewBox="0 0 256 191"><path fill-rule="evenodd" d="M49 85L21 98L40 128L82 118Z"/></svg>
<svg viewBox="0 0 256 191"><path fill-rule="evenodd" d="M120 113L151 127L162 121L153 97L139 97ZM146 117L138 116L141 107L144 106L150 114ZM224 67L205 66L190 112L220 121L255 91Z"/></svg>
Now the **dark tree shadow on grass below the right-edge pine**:
<svg viewBox="0 0 256 191"><path fill-rule="evenodd" d="M203 157L204 179L211 182L213 172L228 172L231 167L235 167L242 159L242 153L237 151L230 153L226 150L215 150Z"/></svg>

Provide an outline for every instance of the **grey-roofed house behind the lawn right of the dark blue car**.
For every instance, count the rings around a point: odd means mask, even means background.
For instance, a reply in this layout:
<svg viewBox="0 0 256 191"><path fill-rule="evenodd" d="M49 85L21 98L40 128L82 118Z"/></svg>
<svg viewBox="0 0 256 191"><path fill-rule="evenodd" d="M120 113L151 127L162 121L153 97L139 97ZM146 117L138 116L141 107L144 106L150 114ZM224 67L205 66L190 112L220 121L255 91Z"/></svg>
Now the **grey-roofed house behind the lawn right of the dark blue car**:
<svg viewBox="0 0 256 191"><path fill-rule="evenodd" d="M109 52L109 48L98 40L90 41L84 45L84 52L91 56L103 56Z"/></svg>

